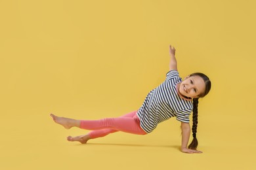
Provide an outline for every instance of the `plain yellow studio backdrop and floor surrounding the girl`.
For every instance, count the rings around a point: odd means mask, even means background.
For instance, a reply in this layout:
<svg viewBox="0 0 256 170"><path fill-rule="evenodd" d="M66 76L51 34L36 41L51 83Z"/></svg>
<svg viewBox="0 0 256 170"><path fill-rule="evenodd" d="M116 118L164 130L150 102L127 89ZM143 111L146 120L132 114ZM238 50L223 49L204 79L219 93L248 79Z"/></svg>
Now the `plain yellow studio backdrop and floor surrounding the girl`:
<svg viewBox="0 0 256 170"><path fill-rule="evenodd" d="M255 169L255 1L0 1L0 169ZM169 69L200 71L199 150L171 118L146 136L70 143L49 114L139 109Z"/></svg>

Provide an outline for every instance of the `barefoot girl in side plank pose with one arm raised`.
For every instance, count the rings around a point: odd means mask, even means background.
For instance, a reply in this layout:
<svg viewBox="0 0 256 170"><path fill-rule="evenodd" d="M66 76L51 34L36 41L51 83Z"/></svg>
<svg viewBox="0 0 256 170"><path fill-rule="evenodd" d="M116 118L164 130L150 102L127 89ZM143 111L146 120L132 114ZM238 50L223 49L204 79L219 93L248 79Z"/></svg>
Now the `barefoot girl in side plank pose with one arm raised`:
<svg viewBox="0 0 256 170"><path fill-rule="evenodd" d="M86 135L68 137L68 141L87 143L89 139L104 137L110 133L123 131L137 135L152 132L160 122L176 117L181 122L182 141L181 151L185 153L202 153L196 150L198 141L196 129L198 126L198 98L207 95L211 89L211 81L202 73L194 73L183 81L177 71L175 48L170 46L170 71L165 81L150 91L139 110L125 114L119 118L104 118L101 120L74 120L51 114L54 122L66 129L79 127L93 130ZM188 146L190 137L189 115L193 110L193 140Z"/></svg>

